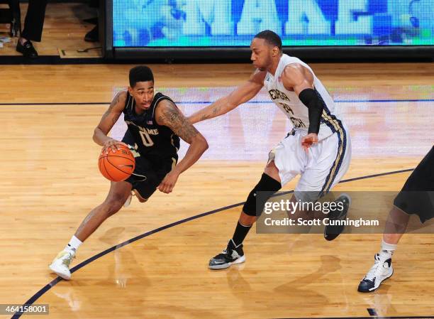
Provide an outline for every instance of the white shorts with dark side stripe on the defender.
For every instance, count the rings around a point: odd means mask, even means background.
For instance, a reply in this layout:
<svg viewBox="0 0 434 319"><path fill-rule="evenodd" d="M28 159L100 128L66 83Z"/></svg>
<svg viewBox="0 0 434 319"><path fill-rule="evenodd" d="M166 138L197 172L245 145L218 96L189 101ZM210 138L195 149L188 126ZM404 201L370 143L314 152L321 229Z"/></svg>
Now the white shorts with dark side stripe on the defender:
<svg viewBox="0 0 434 319"><path fill-rule="evenodd" d="M296 185L295 195L304 200L300 192L317 194L316 199L339 183L348 170L351 160L351 141L345 126L334 134L314 144L308 153L301 147L301 139L306 131L293 130L269 153L269 161L279 169L282 186L301 175ZM306 198L307 199L307 198Z"/></svg>

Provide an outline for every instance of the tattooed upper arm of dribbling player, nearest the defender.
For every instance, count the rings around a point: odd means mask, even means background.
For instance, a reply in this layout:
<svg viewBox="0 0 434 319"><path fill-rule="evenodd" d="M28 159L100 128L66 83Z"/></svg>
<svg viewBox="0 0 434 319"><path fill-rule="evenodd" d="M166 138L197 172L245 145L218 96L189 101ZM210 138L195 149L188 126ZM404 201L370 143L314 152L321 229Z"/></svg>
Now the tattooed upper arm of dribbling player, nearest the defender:
<svg viewBox="0 0 434 319"><path fill-rule="evenodd" d="M165 101L166 102L166 101ZM191 139L199 134L199 132L194 128L193 125L184 117L184 115L179 112L179 109L172 102L167 101L164 109L162 109L162 114L158 117L160 124L169 127L177 134L181 139L187 143L191 143Z"/></svg>

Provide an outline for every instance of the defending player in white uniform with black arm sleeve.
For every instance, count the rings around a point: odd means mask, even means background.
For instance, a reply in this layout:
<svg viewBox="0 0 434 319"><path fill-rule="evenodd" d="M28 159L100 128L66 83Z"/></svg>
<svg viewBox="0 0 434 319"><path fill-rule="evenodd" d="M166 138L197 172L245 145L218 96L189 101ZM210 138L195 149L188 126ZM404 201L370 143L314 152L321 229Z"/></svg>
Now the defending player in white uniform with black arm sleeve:
<svg viewBox="0 0 434 319"><path fill-rule="evenodd" d="M245 261L243 240L262 212L265 202L258 202L257 192L267 198L296 175L293 201L315 201L339 182L350 165L350 136L343 121L335 114L332 97L311 67L298 58L282 53L282 40L272 31L262 31L252 40L251 60L256 67L250 79L228 96L189 117L191 123L226 114L243 104L265 87L272 101L286 114L294 128L269 153L262 177L247 197L233 238L221 254L209 261L210 269L225 269ZM263 194L263 193L262 193ZM346 217L350 198L341 195L340 211L333 218ZM328 216L332 218L332 216ZM325 239L333 240L343 227L325 227Z"/></svg>

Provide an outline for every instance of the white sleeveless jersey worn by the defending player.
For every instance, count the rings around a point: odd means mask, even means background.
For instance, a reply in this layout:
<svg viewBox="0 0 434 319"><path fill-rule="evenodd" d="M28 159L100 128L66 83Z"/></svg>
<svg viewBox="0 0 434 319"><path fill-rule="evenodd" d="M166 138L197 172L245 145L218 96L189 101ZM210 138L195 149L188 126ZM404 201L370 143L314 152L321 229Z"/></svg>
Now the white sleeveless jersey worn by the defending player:
<svg viewBox="0 0 434 319"><path fill-rule="evenodd" d="M343 129L343 123L335 114L335 103L332 97L328 94L324 85L315 76L311 67L306 63L301 61L299 58L294 58L289 55L282 55L279 60L279 65L277 65L276 73L272 75L267 72L265 75L264 86L269 93L269 96L273 100L274 104L279 107L279 109L286 114L295 130L308 131L309 127L309 114L308 108L303 102L300 101L298 95L294 91L286 90L280 77L284 72L286 65L291 63L299 63L311 71L313 75L313 85L316 91L322 97L325 107L323 114L321 116L321 126L318 132L318 140L325 139L326 137L332 135L336 131Z"/></svg>

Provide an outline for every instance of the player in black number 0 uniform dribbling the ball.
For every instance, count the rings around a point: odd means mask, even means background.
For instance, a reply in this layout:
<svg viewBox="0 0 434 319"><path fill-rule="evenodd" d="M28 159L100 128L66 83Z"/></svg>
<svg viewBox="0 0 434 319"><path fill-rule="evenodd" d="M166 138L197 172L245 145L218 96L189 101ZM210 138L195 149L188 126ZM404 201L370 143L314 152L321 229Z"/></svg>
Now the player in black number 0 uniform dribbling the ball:
<svg viewBox="0 0 434 319"><path fill-rule="evenodd" d="M133 192L140 202L150 198L156 189L171 193L179 174L196 163L208 148L204 136L179 111L172 99L154 92L154 76L149 67L130 70L128 91L119 92L94 131L94 141L102 152L116 151L127 145L135 157L135 170L127 180L111 182L106 200L84 218L71 240L50 264L50 269L63 279L70 279L69 265L79 246L108 217L128 202ZM128 125L122 141L107 136L123 113ZM190 144L177 163L179 138Z"/></svg>

